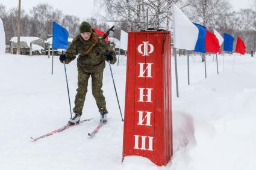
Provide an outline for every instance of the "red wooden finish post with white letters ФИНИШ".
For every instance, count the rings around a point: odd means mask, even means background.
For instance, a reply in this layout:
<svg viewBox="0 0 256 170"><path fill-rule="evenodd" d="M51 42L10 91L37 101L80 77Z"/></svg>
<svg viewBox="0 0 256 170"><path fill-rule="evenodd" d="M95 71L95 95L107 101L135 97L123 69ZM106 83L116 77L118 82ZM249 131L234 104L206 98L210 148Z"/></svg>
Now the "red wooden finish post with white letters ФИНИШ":
<svg viewBox="0 0 256 170"><path fill-rule="evenodd" d="M170 32L128 32L123 157L172 156Z"/></svg>

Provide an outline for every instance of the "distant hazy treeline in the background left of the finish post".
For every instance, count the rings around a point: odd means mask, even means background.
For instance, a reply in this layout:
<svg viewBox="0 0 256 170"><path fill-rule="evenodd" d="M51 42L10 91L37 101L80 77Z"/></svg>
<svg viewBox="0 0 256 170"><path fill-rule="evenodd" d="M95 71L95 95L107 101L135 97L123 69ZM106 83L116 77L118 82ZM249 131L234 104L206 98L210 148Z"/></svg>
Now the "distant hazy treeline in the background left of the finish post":
<svg viewBox="0 0 256 170"><path fill-rule="evenodd" d="M12 37L17 36L18 9L7 9L0 3L0 17L4 23L5 43L9 44ZM107 29L105 23L98 24L95 19L88 19L93 26ZM72 15L64 14L63 11L49 4L39 4L31 8L29 13L22 10L20 19L20 36L39 37L46 40L48 34L52 34L52 22L58 22L69 31L69 37L73 38L79 32L81 20Z"/></svg>

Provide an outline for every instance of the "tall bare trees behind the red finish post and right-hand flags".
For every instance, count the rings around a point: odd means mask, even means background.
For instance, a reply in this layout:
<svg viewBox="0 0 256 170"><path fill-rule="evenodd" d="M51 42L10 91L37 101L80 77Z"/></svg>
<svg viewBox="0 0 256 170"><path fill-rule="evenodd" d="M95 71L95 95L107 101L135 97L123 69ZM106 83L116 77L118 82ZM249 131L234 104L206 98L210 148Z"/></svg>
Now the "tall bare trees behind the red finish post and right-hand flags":
<svg viewBox="0 0 256 170"><path fill-rule="evenodd" d="M192 20L213 31L213 28L241 37L247 52L256 50L256 1L249 9L234 11L228 0L98 0L105 9L102 20L116 22L124 31L146 28L172 30L172 3ZM118 37L117 37L118 38ZM236 44L236 43L234 43Z"/></svg>

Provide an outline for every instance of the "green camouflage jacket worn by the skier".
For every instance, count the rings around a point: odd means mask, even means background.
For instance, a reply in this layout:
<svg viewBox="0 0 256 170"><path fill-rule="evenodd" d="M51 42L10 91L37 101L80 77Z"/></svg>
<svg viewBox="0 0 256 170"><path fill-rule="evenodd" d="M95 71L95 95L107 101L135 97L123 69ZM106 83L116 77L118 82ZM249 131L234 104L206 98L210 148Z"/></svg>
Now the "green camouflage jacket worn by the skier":
<svg viewBox="0 0 256 170"><path fill-rule="evenodd" d="M90 53L86 55L85 53L87 49L89 49L90 45L93 43L93 38L98 38L98 42ZM73 39L67 49L65 63L69 64L69 62L74 60L76 55L78 55L78 68L88 73L102 71L105 68L106 50L113 55L113 59L110 61L110 64L114 64L116 62L116 54L114 53L114 50L110 49L110 46L108 46L107 42L101 37L101 35L93 32L91 38L85 41L79 34Z"/></svg>

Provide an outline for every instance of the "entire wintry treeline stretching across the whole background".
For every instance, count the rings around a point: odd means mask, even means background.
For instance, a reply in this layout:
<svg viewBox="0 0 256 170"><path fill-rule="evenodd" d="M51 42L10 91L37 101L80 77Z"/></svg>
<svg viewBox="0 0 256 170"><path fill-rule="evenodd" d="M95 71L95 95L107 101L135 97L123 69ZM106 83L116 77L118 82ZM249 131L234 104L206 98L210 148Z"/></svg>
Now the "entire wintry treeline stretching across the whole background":
<svg viewBox="0 0 256 170"><path fill-rule="evenodd" d="M157 28L172 31L172 3L180 7L192 22L241 37L246 44L247 52L256 50L256 0L249 9L234 11L230 0L97 0L98 11L103 14L87 19L93 28L106 31L114 22L116 31L113 37L120 38L120 30L139 31L140 29ZM95 7L96 8L96 7ZM4 22L6 43L17 34L17 8L7 10L0 4L0 17ZM63 14L48 4L39 4L29 13L22 10L21 34L46 39L52 34L52 21L67 28L70 38L78 34L81 20L72 15ZM234 43L236 44L236 43Z"/></svg>

